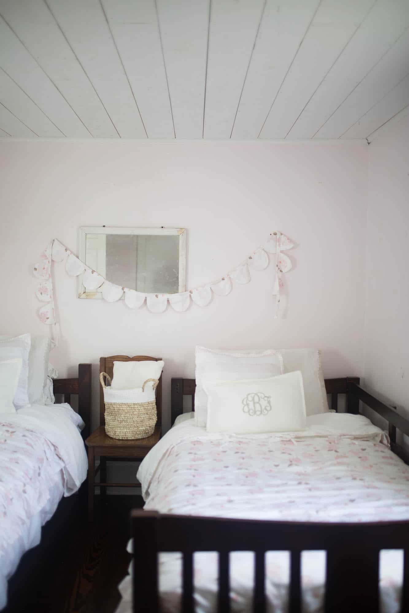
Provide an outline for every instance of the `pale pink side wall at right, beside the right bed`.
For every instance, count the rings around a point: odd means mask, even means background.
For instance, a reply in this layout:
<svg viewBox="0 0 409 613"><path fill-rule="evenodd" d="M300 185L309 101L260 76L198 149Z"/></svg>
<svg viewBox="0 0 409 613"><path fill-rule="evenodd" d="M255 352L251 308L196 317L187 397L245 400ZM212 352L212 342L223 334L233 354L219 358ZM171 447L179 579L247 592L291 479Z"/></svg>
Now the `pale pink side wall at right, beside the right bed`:
<svg viewBox="0 0 409 613"><path fill-rule="evenodd" d="M409 415L409 118L368 147L365 384Z"/></svg>

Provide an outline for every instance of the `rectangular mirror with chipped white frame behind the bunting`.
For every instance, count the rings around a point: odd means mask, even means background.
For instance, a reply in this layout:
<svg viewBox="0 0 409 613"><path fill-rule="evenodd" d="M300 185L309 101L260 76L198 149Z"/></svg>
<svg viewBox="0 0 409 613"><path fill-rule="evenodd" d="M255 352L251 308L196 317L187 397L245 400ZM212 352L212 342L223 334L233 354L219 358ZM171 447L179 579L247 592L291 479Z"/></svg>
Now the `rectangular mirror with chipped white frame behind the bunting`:
<svg viewBox="0 0 409 613"><path fill-rule="evenodd" d="M107 281L146 294L177 294L186 289L184 228L82 227L79 259ZM79 276L79 298L87 291Z"/></svg>

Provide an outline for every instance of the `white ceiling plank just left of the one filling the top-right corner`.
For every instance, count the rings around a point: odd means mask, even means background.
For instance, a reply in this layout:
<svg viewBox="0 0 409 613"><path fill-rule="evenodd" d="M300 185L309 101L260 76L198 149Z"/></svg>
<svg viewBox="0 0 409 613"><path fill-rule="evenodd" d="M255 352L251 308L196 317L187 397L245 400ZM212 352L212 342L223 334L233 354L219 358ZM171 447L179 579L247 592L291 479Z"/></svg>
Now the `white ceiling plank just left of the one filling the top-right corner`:
<svg viewBox="0 0 409 613"><path fill-rule="evenodd" d="M285 139L374 0L322 0L271 106L260 139Z"/></svg>

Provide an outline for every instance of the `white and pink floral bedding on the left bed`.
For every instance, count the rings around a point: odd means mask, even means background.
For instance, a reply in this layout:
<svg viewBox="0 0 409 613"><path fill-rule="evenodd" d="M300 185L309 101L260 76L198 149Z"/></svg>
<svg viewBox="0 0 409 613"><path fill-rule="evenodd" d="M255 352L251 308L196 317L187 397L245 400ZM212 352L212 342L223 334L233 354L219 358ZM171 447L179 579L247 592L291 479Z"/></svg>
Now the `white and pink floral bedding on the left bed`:
<svg viewBox="0 0 409 613"><path fill-rule="evenodd" d="M87 476L83 426L67 404L31 405L0 419L0 609L21 556Z"/></svg>

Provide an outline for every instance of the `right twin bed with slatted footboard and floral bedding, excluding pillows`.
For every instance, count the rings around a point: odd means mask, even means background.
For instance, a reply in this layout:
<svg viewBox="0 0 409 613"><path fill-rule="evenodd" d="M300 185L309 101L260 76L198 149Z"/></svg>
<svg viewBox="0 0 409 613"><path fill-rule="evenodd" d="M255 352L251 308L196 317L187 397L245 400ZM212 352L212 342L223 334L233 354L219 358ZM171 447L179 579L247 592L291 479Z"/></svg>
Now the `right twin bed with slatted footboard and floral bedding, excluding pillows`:
<svg viewBox="0 0 409 613"><path fill-rule="evenodd" d="M325 388L333 411L346 395L346 413L307 417L305 432L217 435L182 414L195 381L172 380L174 425L138 471L146 504L133 512L134 571L117 613L409 611L409 468L397 443L409 422L359 379Z"/></svg>

